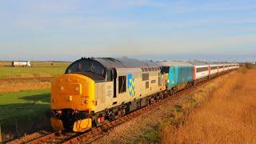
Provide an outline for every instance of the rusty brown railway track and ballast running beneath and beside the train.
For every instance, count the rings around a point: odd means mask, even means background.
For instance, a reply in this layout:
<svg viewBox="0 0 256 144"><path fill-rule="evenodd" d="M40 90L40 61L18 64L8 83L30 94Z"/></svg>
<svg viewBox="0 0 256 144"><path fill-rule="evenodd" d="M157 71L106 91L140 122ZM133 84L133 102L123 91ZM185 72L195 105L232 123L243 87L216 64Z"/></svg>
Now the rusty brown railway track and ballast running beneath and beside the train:
<svg viewBox="0 0 256 144"><path fill-rule="evenodd" d="M219 76L218 76L219 77ZM215 77L215 78L218 78ZM191 86L190 88L186 90L181 90L176 94L172 94L158 102L154 102L153 104L149 106L145 106L139 110L136 110L134 112L131 112L130 114L126 114L125 116L115 119L112 122L108 122L103 126L99 126L97 128L94 128L93 130L90 130L85 133L73 133L73 132L66 132L66 131L56 131L51 134L46 134L40 138L33 139L29 142L26 143L31 143L31 144L37 144L37 143L64 143L64 144L71 144L71 143L78 143L78 142L83 142L83 143L90 143L93 142L94 140L98 139L101 137L103 132L106 132L107 130L110 130L114 126L118 126L122 124L123 122L129 122L132 118L138 117L139 115L146 113L147 111L150 111L160 105L162 105L163 102L177 102L178 99L182 95L185 94L190 94L194 90L197 90L199 86L206 85L206 83L211 82L215 78L211 78L208 81L205 82L200 82L197 85Z"/></svg>

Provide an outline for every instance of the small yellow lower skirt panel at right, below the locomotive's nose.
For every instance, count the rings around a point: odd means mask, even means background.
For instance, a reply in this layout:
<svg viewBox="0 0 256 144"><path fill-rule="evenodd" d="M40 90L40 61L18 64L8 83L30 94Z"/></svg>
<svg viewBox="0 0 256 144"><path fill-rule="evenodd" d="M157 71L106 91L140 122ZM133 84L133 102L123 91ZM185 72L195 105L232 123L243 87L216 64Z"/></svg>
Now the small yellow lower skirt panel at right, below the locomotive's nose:
<svg viewBox="0 0 256 144"><path fill-rule="evenodd" d="M86 130L89 130L91 126L91 118L86 118L74 122L73 130L74 132L85 132Z"/></svg>

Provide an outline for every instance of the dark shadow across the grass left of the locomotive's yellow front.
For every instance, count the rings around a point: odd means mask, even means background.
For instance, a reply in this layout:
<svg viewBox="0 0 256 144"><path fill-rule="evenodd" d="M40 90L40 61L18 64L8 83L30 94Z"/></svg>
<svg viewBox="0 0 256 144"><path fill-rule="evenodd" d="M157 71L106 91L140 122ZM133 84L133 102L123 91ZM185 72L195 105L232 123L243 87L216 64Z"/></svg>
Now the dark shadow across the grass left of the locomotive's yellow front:
<svg viewBox="0 0 256 144"><path fill-rule="evenodd" d="M21 99L26 103L0 105L2 138L10 141L38 130L50 130L50 94Z"/></svg>

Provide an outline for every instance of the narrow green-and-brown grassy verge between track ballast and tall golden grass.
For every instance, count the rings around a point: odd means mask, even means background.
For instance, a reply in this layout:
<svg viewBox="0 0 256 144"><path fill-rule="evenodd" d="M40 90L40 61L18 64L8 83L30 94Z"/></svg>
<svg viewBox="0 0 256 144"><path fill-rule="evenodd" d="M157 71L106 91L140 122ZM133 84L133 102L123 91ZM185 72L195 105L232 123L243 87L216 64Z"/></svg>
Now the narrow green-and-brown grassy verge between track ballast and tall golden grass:
<svg viewBox="0 0 256 144"><path fill-rule="evenodd" d="M226 76L224 76L226 77ZM162 118L162 122L158 122L152 130L146 130L139 142L135 143L165 143L168 134L170 131L175 131L178 127L186 123L186 119L192 110L196 107L201 106L206 102L214 90L217 89L221 79L216 79L214 82L210 82L206 86L200 88L190 95L189 98L180 102L178 105L172 107L170 115L167 115L165 118Z"/></svg>

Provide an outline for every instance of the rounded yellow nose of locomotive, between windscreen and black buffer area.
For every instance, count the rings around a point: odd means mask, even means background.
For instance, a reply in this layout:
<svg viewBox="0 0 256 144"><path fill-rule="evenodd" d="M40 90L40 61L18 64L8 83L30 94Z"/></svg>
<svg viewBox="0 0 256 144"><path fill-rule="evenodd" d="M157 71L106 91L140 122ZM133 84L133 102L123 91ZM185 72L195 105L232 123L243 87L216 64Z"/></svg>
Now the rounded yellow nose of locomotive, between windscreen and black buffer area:
<svg viewBox="0 0 256 144"><path fill-rule="evenodd" d="M90 110L94 81L81 74L63 74L51 86L51 109Z"/></svg>

